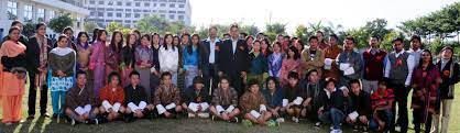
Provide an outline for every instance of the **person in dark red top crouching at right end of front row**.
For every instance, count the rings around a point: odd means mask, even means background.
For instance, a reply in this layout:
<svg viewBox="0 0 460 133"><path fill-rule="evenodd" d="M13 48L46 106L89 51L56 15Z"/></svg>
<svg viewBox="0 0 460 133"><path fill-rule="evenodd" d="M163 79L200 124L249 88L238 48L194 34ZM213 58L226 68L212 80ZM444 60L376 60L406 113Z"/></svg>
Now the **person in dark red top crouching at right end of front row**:
<svg viewBox="0 0 460 133"><path fill-rule="evenodd" d="M369 125L379 132L388 132L393 119L392 106L394 102L393 89L386 88L384 80L379 81L379 89L372 93L372 117Z"/></svg>

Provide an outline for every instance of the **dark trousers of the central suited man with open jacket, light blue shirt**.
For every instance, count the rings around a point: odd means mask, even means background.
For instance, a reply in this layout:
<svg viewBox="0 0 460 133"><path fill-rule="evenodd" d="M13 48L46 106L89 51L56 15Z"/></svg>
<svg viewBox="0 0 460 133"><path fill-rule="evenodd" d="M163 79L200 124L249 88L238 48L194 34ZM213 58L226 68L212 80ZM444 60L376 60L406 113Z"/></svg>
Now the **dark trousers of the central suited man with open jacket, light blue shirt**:
<svg viewBox="0 0 460 133"><path fill-rule="evenodd" d="M215 65L210 64L209 69L202 69L202 79L205 80L205 88L207 88L210 96L212 96L212 91L217 88L219 82L219 76L217 75Z"/></svg>

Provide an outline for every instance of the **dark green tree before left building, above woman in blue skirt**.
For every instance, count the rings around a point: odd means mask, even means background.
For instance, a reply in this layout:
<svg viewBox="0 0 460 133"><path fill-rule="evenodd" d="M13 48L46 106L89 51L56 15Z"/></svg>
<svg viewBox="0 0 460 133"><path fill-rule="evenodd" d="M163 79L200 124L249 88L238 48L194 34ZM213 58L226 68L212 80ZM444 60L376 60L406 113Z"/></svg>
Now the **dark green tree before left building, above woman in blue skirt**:
<svg viewBox="0 0 460 133"><path fill-rule="evenodd" d="M66 26L74 25L74 19L70 18L69 13L53 18L50 20L50 29L56 33L61 33Z"/></svg>

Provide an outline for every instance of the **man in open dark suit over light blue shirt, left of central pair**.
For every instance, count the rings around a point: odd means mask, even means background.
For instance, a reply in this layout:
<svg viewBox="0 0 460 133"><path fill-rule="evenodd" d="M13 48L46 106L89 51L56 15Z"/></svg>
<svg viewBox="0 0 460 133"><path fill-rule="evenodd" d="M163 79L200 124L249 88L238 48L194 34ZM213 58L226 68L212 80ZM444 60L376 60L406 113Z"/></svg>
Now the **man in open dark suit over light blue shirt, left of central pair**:
<svg viewBox="0 0 460 133"><path fill-rule="evenodd" d="M209 89L208 95L212 93L212 89L217 88L218 82L218 69L217 69L217 56L220 40L217 38L217 27L209 27L209 37L201 41L199 46L199 60L198 69L201 70L205 88ZM212 85L211 85L212 82Z"/></svg>

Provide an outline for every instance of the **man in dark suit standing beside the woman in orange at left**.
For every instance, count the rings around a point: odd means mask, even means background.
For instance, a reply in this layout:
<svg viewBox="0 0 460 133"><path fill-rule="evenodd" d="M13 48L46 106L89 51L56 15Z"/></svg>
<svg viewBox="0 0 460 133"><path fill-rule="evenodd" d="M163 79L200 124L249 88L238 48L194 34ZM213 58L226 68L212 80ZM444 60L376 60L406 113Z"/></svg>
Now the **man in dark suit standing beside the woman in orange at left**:
<svg viewBox="0 0 460 133"><path fill-rule="evenodd" d="M47 53L53 48L52 41L46 37L46 24L39 23L36 24L36 35L29 40L26 44L28 49L25 56L28 57L28 71L30 78L29 87L29 117L28 120L33 120L35 115L35 101L36 101L36 90L40 90L40 113L42 117L50 117L46 114L46 103L47 103L47 86L43 84L45 79L39 79L42 84L36 82L35 78L46 77L46 64ZM41 76L41 75L44 75ZM36 86L39 85L39 86Z"/></svg>

